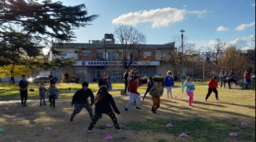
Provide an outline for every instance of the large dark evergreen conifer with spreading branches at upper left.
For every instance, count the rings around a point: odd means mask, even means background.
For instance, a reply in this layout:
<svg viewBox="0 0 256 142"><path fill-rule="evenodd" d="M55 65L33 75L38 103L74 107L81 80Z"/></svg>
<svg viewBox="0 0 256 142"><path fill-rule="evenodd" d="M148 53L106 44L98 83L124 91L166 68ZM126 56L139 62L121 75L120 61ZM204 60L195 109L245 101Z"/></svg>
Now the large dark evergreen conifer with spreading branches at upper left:
<svg viewBox="0 0 256 142"><path fill-rule="evenodd" d="M86 6L65 6L51 0L37 3L36 0L0 1L0 66L9 64L40 66L42 68L69 66L73 59L54 62L28 62L22 56L42 56L42 48L49 40L72 42L73 29L90 25L98 15L86 17ZM53 54L60 52L52 50ZM22 55L22 56L21 56ZM59 64L61 63L61 64ZM30 67L30 66L29 66Z"/></svg>

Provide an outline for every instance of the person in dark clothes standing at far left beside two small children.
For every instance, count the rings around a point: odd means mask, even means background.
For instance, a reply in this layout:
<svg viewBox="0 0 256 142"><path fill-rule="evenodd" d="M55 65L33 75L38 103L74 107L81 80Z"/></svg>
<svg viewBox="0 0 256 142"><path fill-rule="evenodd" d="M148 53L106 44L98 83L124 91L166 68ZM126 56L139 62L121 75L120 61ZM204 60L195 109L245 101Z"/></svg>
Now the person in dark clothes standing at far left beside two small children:
<svg viewBox="0 0 256 142"><path fill-rule="evenodd" d="M26 80L26 76L24 74L22 75L22 80L19 82L19 87L22 106L27 106L26 102L28 99L28 80Z"/></svg>

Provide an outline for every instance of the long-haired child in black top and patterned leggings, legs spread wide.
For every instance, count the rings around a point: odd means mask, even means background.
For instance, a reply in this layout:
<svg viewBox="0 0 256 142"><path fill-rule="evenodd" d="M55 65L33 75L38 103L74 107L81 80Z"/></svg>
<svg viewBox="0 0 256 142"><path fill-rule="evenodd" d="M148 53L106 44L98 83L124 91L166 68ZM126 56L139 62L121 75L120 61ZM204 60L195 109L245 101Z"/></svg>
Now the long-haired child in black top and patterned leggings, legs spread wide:
<svg viewBox="0 0 256 142"><path fill-rule="evenodd" d="M94 119L92 119L92 122L90 123L90 126L88 127L87 133L92 133L92 129L96 125L96 122L98 119L102 117L102 113L105 113L110 117L114 123L115 129L117 132L122 131L122 129L119 127L117 123L117 117L115 116L115 113L117 115L120 114L119 110L117 109L117 106L115 104L115 101L111 94L108 93L107 86L100 86L98 89L98 92L96 93L95 97L95 115ZM111 109L111 106L113 107L115 113Z"/></svg>

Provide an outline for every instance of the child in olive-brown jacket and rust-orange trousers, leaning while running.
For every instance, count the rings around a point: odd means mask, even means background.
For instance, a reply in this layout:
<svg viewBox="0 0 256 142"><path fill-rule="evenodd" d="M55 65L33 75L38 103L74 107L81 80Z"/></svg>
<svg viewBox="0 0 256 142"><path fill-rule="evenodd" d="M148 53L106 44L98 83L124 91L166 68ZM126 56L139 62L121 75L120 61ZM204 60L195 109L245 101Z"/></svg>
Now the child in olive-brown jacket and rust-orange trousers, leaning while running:
<svg viewBox="0 0 256 142"><path fill-rule="evenodd" d="M160 96L164 93L164 87L162 87L162 81L158 80L158 84L150 89L150 95L152 96L152 113L156 114L156 110L160 107Z"/></svg>

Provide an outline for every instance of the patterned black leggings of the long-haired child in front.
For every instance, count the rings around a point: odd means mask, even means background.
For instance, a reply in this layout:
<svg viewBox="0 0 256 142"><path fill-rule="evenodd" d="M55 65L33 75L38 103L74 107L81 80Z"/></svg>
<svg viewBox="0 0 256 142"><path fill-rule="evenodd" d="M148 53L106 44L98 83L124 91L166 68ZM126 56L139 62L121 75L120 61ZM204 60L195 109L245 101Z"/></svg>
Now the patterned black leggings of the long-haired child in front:
<svg viewBox="0 0 256 142"><path fill-rule="evenodd" d="M114 126L116 129L119 129L119 125L117 123L117 117L115 116L115 113L113 112L109 112L109 113L105 113L106 115L108 115L108 117L110 117L114 123ZM88 129L92 130L94 128L94 126L96 125L96 122L98 121L98 119L100 119L102 117L102 114L95 114L94 115L94 119L92 119L92 122L90 123L90 126Z"/></svg>

